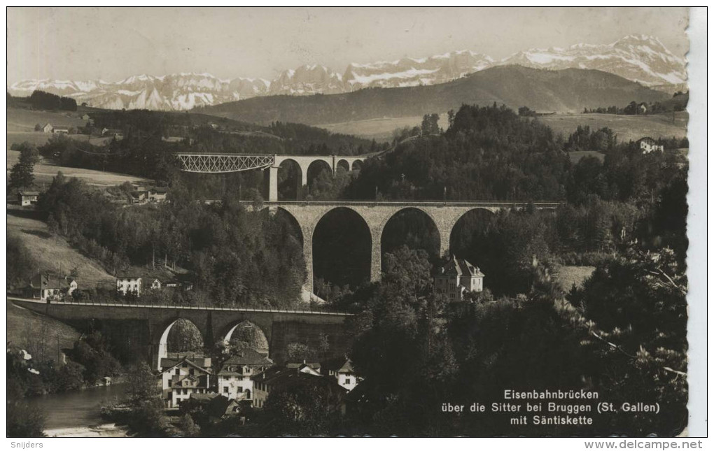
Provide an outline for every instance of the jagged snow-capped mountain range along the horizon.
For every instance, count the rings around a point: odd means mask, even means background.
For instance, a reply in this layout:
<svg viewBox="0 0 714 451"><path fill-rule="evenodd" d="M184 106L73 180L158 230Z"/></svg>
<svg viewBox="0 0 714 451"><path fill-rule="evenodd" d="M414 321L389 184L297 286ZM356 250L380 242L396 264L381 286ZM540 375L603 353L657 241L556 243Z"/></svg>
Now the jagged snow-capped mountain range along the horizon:
<svg viewBox="0 0 714 451"><path fill-rule="evenodd" d="M645 86L671 90L686 83L686 62L652 36L625 36L613 44L575 44L565 49L529 49L502 60L472 51L428 58L350 64L343 74L321 66L301 66L262 78L225 80L211 74L137 75L121 81L25 80L7 91L29 96L41 90L100 108L188 110L196 106L256 96L343 93L368 87L418 86L460 78L493 66L518 64L535 69L598 69Z"/></svg>

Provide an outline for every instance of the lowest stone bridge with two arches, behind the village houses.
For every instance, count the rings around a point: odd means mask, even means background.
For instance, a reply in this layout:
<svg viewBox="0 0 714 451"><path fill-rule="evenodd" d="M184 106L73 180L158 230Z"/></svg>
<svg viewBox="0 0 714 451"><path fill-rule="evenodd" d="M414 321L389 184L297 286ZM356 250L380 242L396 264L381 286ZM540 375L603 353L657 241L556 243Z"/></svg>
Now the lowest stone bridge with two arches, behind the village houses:
<svg viewBox="0 0 714 451"><path fill-rule="evenodd" d="M289 343L318 348L326 336L329 353L334 356L344 355L351 344L348 313L9 300L81 330L100 330L125 358L146 360L154 369L159 369L161 358L166 357L166 338L171 326L181 318L196 325L207 347L228 340L236 325L247 321L265 335L268 355L276 363L284 362Z"/></svg>

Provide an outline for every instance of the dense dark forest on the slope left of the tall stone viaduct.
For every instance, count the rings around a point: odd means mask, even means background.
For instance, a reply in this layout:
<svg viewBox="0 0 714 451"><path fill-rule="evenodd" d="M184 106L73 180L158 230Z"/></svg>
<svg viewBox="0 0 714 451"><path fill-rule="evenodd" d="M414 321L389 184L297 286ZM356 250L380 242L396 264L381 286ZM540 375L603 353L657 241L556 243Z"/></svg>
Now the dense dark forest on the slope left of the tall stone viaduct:
<svg viewBox="0 0 714 451"><path fill-rule="evenodd" d="M282 308L298 302L305 265L291 224L267 211L248 211L232 196L206 205L174 185L168 203L121 208L78 179L59 174L37 208L52 233L66 237L111 274L150 265L157 256L195 274L193 290L175 290L165 302ZM116 296L83 291L73 295Z"/></svg>

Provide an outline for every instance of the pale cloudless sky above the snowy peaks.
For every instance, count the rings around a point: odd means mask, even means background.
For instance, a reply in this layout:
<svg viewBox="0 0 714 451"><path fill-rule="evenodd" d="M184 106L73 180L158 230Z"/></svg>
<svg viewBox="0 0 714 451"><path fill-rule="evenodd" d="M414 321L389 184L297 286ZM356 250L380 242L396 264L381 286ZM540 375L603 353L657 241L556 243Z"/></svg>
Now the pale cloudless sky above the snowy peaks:
<svg viewBox="0 0 714 451"><path fill-rule="evenodd" d="M533 47L658 37L685 56L687 9L9 8L7 83L119 81L210 73L272 79L284 69L420 58L468 49L502 59Z"/></svg>

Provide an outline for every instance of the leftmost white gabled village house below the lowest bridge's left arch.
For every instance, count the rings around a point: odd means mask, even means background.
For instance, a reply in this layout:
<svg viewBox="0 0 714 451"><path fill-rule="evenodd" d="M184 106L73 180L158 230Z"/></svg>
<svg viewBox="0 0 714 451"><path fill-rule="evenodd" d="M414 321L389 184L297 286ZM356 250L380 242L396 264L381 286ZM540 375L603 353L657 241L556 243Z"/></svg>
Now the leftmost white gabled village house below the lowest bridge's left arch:
<svg viewBox="0 0 714 451"><path fill-rule="evenodd" d="M211 359L161 359L161 392L166 407L178 407L194 393L211 392Z"/></svg>

